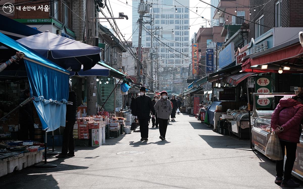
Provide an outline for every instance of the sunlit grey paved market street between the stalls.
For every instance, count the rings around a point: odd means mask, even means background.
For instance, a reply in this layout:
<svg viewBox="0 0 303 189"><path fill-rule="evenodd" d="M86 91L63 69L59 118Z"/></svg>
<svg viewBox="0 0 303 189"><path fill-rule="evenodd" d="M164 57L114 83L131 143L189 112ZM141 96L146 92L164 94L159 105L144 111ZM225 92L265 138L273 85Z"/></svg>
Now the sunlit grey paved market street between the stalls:
<svg viewBox="0 0 303 189"><path fill-rule="evenodd" d="M25 168L0 178L0 188L280 188L275 163L238 141L213 132L193 116L177 115L167 141L149 129L108 139L98 148L76 148L75 157L49 161L57 168ZM151 125L150 125L151 127ZM141 155L117 155L143 151Z"/></svg>

